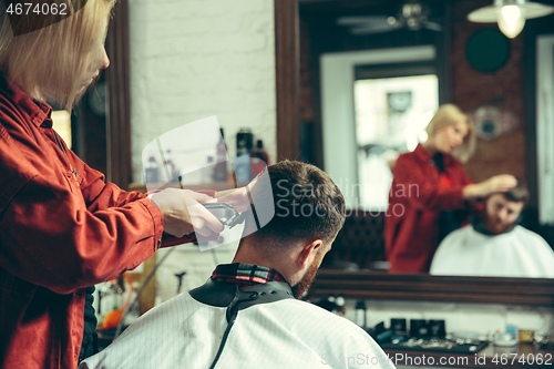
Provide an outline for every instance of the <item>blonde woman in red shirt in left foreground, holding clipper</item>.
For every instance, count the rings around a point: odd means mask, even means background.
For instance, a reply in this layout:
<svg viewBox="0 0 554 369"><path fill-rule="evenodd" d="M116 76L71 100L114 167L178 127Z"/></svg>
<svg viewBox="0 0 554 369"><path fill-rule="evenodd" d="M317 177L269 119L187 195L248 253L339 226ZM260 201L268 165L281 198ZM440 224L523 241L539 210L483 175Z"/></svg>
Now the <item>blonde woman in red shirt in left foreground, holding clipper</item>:
<svg viewBox="0 0 554 369"><path fill-rule="evenodd" d="M52 130L47 101L71 110L110 64L113 1L57 1L72 14L59 22L45 3L27 3L42 14L1 13L0 367L76 368L94 352L89 286L135 268L171 235L184 243L223 225L203 206L167 211L183 196L216 201L207 194L165 189L151 201L105 183Z"/></svg>

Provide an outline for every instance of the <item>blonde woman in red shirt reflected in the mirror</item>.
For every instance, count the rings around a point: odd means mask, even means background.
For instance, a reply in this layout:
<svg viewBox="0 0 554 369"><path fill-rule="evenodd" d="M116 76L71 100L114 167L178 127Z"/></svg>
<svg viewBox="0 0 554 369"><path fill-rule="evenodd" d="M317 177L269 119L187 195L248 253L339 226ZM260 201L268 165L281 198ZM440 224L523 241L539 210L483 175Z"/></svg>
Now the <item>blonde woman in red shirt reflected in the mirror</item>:
<svg viewBox="0 0 554 369"><path fill-rule="evenodd" d="M473 124L453 104L439 107L429 123L429 139L399 156L393 168L384 243L392 273L429 271L440 240L459 228L474 199L506 192L512 175L473 183L462 162L472 154ZM400 211L401 209L401 211Z"/></svg>

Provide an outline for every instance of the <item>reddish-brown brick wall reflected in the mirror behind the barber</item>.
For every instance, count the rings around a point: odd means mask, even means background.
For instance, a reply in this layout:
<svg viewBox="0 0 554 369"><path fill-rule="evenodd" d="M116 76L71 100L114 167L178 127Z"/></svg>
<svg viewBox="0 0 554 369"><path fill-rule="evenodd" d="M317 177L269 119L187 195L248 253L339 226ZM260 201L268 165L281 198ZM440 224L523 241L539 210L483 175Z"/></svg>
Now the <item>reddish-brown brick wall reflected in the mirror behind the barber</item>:
<svg viewBox="0 0 554 369"><path fill-rule="evenodd" d="M501 69L483 73L473 69L465 57L471 35L496 24L472 23L466 14L490 1L472 0L453 3L452 30L452 99L463 111L493 105L512 112L520 123L517 130L495 140L478 140L473 157L466 163L469 175L483 181L495 174L510 173L525 178L525 124L523 110L523 33L510 40L510 58ZM525 32L525 29L523 30Z"/></svg>

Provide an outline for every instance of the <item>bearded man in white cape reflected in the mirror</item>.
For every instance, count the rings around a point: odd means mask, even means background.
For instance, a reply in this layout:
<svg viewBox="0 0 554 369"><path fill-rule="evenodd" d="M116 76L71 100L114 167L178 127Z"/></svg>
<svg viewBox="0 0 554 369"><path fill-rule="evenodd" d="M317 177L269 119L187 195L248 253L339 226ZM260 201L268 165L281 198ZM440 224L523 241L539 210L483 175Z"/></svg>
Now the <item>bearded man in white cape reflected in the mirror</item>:
<svg viewBox="0 0 554 369"><path fill-rule="evenodd" d="M490 196L480 219L442 240L431 274L554 278L552 248L537 234L516 225L529 197L521 184Z"/></svg>

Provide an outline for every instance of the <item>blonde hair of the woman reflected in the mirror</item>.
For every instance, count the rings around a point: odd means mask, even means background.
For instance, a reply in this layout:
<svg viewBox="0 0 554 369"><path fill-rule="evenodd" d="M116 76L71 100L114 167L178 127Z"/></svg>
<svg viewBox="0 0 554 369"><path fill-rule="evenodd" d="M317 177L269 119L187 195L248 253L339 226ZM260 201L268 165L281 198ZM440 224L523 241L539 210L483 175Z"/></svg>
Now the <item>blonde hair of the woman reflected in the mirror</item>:
<svg viewBox="0 0 554 369"><path fill-rule="evenodd" d="M460 162L465 163L475 151L475 127L473 121L465 115L460 107L454 104L443 104L434 114L431 122L427 126L429 136L433 136L439 130L454 125L458 122L464 122L468 125L468 134L463 139L463 143L453 152Z"/></svg>

